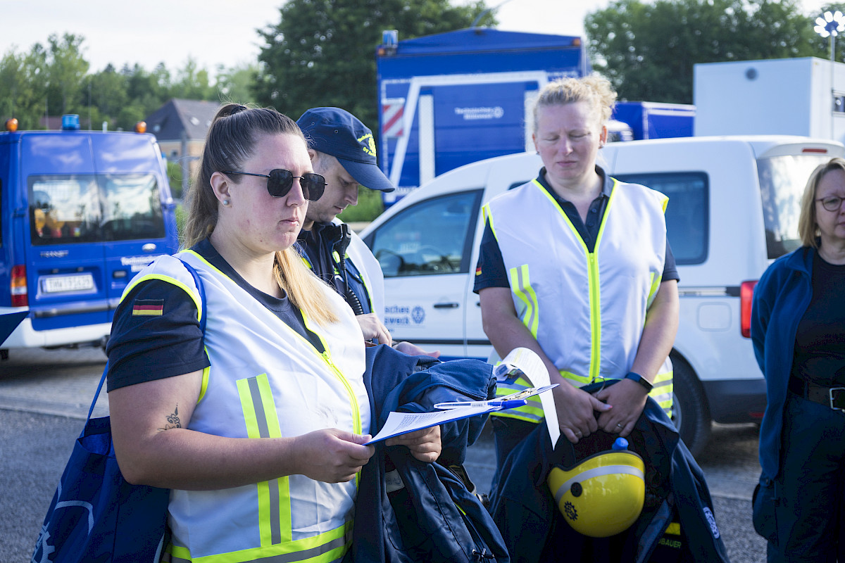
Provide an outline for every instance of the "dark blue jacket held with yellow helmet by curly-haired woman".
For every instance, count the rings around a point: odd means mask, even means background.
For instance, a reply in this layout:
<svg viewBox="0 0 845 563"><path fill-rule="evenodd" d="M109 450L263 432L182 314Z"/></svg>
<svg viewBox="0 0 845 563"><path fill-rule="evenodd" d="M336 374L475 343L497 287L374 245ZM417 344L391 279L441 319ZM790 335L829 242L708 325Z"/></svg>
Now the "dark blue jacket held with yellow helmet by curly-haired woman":
<svg viewBox="0 0 845 563"><path fill-rule="evenodd" d="M611 383L612 384L612 383ZM728 561L713 516L704 474L680 441L660 406L649 398L628 436L630 450L646 462L646 504L628 530L605 539L575 532L561 516L546 477L550 460L567 467L594 452L610 449L615 434L599 431L570 447L564 436L553 451L545 421L505 459L490 496L490 512L514 561L650 560L669 523L680 522L684 561ZM565 442L565 443L564 443Z"/></svg>

